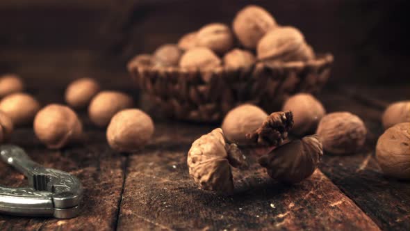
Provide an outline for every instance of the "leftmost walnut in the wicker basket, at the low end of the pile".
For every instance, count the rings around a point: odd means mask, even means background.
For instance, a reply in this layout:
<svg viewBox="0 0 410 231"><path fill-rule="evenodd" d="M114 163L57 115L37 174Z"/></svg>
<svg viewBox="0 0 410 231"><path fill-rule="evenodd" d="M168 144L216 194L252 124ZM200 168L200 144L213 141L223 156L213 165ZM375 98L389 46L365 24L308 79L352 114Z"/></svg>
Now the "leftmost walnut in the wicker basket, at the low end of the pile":
<svg viewBox="0 0 410 231"><path fill-rule="evenodd" d="M177 45L165 44L154 51L154 61L160 66L177 66L182 53Z"/></svg>

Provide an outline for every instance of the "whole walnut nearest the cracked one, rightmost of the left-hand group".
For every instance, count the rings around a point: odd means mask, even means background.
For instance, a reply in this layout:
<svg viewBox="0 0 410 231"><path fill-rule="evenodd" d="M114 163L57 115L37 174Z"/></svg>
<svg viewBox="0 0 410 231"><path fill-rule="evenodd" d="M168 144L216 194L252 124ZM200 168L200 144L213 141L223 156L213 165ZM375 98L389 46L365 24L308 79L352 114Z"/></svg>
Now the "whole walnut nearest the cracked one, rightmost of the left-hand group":
<svg viewBox="0 0 410 231"><path fill-rule="evenodd" d="M107 127L108 144L118 152L133 152L154 134L154 122L145 112L125 109L115 114Z"/></svg>

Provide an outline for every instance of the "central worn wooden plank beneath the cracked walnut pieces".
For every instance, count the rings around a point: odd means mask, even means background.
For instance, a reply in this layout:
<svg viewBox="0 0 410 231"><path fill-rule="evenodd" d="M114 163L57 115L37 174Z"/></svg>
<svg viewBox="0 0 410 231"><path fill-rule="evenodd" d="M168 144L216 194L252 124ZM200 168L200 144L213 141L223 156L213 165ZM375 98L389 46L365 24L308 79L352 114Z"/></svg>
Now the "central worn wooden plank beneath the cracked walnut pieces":
<svg viewBox="0 0 410 231"><path fill-rule="evenodd" d="M197 189L188 175L190 143L211 127L157 124L154 141L129 158L118 230L379 230L320 170L286 186L254 157L234 170L236 192Z"/></svg>

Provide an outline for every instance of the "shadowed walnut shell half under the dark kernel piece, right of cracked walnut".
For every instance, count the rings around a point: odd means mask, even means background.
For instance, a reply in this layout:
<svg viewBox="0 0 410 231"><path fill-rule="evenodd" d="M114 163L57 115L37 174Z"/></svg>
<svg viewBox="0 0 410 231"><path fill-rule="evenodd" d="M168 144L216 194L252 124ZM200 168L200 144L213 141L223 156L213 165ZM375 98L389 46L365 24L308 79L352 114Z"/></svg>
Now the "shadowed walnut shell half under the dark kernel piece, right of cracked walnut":
<svg viewBox="0 0 410 231"><path fill-rule="evenodd" d="M259 164L275 180L298 183L313 174L322 155L322 142L312 135L279 146L261 157Z"/></svg>

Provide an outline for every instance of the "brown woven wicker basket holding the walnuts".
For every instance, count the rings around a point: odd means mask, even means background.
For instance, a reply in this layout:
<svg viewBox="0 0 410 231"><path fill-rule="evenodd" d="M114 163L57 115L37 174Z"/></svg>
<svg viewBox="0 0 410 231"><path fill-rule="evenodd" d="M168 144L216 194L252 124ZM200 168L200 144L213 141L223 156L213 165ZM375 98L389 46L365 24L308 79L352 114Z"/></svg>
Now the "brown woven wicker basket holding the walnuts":
<svg viewBox="0 0 410 231"><path fill-rule="evenodd" d="M138 88L147 93L167 116L196 122L218 122L245 102L268 113L281 108L295 93L318 93L329 78L333 56L307 62L256 63L245 69L224 67L188 70L136 62L128 65Z"/></svg>

